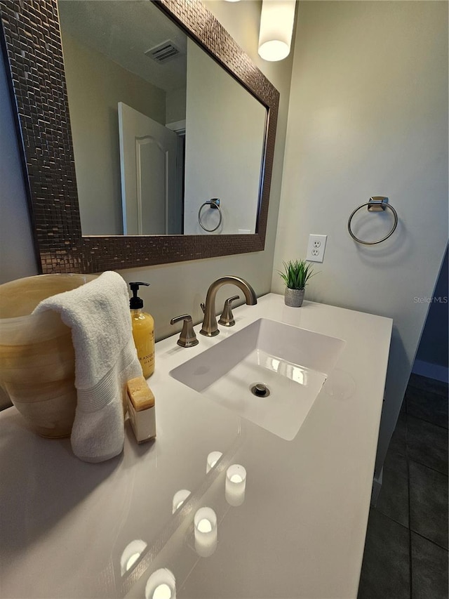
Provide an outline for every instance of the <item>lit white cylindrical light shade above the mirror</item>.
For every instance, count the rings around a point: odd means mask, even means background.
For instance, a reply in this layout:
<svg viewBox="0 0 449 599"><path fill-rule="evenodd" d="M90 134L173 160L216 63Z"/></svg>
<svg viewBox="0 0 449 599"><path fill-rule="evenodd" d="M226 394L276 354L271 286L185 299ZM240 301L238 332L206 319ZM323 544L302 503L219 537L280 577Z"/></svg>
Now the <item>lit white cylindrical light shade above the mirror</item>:
<svg viewBox="0 0 449 599"><path fill-rule="evenodd" d="M259 55L264 60L283 60L290 53L295 7L295 0L262 1Z"/></svg>

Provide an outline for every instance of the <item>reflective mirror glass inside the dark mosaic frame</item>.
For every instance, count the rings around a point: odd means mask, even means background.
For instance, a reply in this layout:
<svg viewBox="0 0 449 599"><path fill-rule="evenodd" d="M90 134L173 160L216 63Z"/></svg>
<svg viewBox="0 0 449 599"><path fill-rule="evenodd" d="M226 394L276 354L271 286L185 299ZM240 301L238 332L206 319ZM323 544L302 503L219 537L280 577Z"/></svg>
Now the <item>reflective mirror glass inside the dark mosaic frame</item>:
<svg viewBox="0 0 449 599"><path fill-rule="evenodd" d="M148 0L58 9L83 235L255 233L264 105Z"/></svg>

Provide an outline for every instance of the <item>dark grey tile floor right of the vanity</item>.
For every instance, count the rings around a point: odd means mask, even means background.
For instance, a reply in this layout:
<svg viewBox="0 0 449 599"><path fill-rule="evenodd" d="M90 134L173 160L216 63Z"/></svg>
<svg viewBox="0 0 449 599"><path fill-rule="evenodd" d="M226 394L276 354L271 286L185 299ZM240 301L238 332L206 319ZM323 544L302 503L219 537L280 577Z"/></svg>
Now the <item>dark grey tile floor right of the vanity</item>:
<svg viewBox="0 0 449 599"><path fill-rule="evenodd" d="M370 509L358 599L448 596L448 385L412 374Z"/></svg>

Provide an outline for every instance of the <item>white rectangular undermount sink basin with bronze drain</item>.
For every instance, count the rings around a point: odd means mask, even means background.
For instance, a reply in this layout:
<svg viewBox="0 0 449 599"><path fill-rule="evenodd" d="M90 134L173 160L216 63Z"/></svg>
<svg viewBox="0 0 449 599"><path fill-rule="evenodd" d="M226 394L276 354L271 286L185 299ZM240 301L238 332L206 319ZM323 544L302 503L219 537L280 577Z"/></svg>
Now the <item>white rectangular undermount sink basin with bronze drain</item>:
<svg viewBox="0 0 449 599"><path fill-rule="evenodd" d="M290 441L335 367L344 343L260 318L171 370L170 376Z"/></svg>

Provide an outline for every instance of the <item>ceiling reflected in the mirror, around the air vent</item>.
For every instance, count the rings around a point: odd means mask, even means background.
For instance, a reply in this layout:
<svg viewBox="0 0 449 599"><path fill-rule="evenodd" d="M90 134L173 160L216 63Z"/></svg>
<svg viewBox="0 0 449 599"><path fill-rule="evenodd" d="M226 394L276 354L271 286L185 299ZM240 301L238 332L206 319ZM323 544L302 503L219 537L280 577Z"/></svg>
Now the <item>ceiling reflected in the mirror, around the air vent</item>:
<svg viewBox="0 0 449 599"><path fill-rule="evenodd" d="M142 79L171 91L185 87L187 37L149 0L59 0L62 32ZM163 41L181 51L159 64L145 55Z"/></svg>

